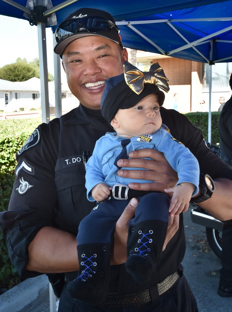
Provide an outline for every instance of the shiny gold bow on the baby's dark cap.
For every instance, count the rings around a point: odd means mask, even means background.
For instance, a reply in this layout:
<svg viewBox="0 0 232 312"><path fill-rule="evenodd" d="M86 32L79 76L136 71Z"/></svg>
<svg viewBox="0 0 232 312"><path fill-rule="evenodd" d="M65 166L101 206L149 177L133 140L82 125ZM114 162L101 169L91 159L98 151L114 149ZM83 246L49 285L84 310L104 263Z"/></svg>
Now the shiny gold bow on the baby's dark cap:
<svg viewBox="0 0 232 312"><path fill-rule="evenodd" d="M135 93L140 94L142 92L144 83L157 85L165 92L169 91L169 80L158 63L152 64L149 71L140 71L127 61L124 62L123 66L126 84Z"/></svg>

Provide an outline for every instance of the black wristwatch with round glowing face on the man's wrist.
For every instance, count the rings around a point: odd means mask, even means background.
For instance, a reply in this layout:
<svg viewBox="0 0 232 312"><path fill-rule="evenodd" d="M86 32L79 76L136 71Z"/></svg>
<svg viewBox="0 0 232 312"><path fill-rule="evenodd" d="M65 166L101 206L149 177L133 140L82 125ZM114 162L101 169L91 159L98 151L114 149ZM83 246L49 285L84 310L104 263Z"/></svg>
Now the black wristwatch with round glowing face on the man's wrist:
<svg viewBox="0 0 232 312"><path fill-rule="evenodd" d="M190 200L193 205L197 205L199 202L204 202L206 199L211 198L215 191L213 179L208 174L200 173L199 188L201 190L201 195L191 198Z"/></svg>

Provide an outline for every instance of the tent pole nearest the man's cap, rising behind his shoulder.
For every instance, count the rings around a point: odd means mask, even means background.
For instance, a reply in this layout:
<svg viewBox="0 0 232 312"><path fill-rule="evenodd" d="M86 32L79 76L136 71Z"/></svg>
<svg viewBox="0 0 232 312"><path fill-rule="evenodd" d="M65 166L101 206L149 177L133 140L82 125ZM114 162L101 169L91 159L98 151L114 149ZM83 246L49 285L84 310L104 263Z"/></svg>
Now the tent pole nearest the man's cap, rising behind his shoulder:
<svg viewBox="0 0 232 312"><path fill-rule="evenodd" d="M56 46L55 34L53 34L53 46ZM61 72L60 57L54 53L54 84L55 84L55 116L62 115L62 98L61 98Z"/></svg>

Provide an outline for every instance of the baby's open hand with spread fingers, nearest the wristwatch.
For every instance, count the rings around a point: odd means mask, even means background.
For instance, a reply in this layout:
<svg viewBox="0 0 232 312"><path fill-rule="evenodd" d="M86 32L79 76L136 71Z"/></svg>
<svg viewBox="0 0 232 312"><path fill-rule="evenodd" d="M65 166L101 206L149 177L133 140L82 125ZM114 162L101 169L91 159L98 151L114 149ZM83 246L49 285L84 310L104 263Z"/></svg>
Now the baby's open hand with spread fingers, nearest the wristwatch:
<svg viewBox="0 0 232 312"><path fill-rule="evenodd" d="M192 193L195 189L196 186L188 182L180 183L173 188L164 189L166 193L173 193L169 206L171 217L187 211Z"/></svg>

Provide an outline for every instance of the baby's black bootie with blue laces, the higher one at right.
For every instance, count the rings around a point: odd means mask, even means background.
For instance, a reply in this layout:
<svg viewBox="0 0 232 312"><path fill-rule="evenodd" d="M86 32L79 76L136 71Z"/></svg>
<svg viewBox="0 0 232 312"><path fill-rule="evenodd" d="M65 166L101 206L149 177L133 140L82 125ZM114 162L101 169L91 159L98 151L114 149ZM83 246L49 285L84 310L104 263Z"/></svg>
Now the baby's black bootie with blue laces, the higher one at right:
<svg viewBox="0 0 232 312"><path fill-rule="evenodd" d="M167 225L167 222L160 220L147 220L129 226L125 266L136 282L146 283L154 273L162 252Z"/></svg>

